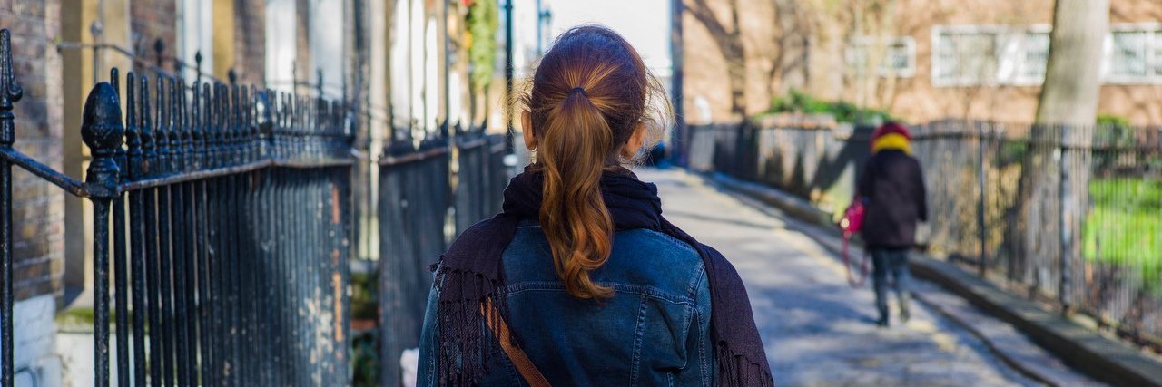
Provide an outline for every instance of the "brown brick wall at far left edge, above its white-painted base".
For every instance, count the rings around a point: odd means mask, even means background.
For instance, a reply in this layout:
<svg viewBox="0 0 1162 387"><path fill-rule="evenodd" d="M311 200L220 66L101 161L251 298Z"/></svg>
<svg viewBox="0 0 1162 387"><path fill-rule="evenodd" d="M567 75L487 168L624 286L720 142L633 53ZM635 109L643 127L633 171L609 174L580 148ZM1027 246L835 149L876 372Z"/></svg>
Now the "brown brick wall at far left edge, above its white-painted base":
<svg viewBox="0 0 1162 387"><path fill-rule="evenodd" d="M2 0L0 27L12 30L13 65L24 97L15 103L15 148L60 169L59 0ZM13 278L16 300L59 297L64 273L64 191L14 168Z"/></svg>

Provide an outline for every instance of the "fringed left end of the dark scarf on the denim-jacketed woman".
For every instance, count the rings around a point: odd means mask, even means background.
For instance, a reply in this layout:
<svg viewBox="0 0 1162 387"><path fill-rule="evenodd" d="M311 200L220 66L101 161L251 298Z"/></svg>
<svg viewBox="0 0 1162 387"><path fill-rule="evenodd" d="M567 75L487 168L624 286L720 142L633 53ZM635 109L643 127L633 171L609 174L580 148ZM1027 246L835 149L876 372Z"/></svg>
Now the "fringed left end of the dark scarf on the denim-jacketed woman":
<svg viewBox="0 0 1162 387"><path fill-rule="evenodd" d="M440 386L475 386L488 373L493 363L503 356L496 337L498 323L507 319L508 302L501 279L479 272L451 270L442 266L436 273L440 297L437 331L442 345L437 377ZM457 286L449 289L449 286ZM482 297L457 297L482 294ZM489 302L493 308L485 308Z"/></svg>

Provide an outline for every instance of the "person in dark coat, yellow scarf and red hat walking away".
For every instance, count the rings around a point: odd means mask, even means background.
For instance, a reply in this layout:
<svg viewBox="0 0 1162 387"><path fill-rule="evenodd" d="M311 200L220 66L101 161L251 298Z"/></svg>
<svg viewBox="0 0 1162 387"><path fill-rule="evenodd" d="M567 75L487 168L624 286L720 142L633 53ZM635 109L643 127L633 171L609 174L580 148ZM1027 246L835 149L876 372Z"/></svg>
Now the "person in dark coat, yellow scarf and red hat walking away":
<svg viewBox="0 0 1162 387"><path fill-rule="evenodd" d="M880 309L876 324L888 326L888 273L895 279L899 300L899 320L910 317L911 273L908 251L916 244L916 224L928 220L924 175L920 162L911 156L912 134L908 127L887 123L871 134L871 158L863 167L859 194L867 212L863 216L863 241L871 251L871 279L875 305Z"/></svg>

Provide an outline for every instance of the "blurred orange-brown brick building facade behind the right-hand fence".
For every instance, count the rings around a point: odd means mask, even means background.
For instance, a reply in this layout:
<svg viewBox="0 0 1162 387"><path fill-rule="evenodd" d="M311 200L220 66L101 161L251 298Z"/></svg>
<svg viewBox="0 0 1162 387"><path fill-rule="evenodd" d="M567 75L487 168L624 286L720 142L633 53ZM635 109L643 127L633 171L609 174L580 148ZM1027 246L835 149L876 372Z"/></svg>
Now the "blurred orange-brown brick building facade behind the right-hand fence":
<svg viewBox="0 0 1162 387"><path fill-rule="evenodd" d="M913 123L1028 123L1052 0L683 0L686 112L724 122L790 89ZM1162 123L1162 3L1111 0L1098 111Z"/></svg>

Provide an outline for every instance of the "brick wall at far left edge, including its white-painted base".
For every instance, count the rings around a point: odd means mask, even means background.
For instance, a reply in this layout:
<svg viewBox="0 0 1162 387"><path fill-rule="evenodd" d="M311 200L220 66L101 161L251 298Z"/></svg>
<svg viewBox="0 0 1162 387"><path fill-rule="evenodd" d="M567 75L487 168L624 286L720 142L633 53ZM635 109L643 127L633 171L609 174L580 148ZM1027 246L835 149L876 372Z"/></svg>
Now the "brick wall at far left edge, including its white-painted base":
<svg viewBox="0 0 1162 387"><path fill-rule="evenodd" d="M24 97L15 103L14 147L57 170L62 163L59 0L0 0L0 28L12 31L13 68ZM64 275L64 191L13 168L13 311L16 385L59 385L52 316Z"/></svg>

